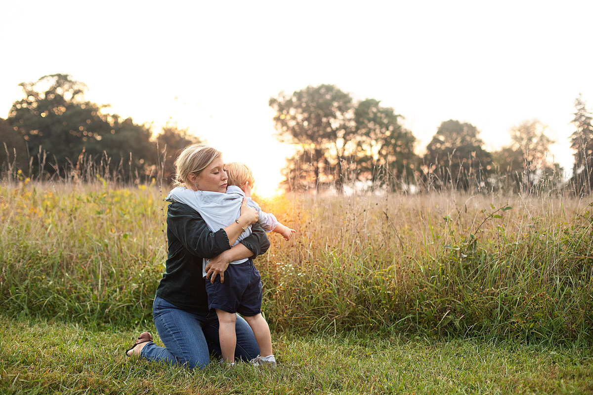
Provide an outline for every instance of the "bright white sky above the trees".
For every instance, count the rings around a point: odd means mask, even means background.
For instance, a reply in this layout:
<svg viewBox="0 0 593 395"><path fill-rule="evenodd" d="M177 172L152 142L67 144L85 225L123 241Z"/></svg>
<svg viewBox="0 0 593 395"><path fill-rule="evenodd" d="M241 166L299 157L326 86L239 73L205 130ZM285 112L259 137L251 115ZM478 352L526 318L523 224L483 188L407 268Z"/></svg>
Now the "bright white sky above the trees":
<svg viewBox="0 0 593 395"><path fill-rule="evenodd" d="M269 194L291 152L269 98L334 84L403 115L418 153L445 120L474 124L492 150L537 118L570 169L579 92L593 107L591 15L586 0L10 1L0 117L20 82L69 73L111 113L205 137Z"/></svg>

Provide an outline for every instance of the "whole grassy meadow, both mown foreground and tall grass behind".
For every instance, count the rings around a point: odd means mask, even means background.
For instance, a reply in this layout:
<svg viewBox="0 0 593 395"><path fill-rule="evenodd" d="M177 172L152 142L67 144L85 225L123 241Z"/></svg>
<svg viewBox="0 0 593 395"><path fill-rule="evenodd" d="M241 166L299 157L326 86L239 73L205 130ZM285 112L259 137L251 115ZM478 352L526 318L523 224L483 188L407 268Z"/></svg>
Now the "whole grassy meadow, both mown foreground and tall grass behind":
<svg viewBox="0 0 593 395"><path fill-rule="evenodd" d="M234 378L267 393L593 391L591 198L259 199L297 229L289 242L270 234L256 260L283 364L202 376L123 357L154 331L166 193L100 178L0 184L5 393L120 393L122 377L146 393L243 393Z"/></svg>

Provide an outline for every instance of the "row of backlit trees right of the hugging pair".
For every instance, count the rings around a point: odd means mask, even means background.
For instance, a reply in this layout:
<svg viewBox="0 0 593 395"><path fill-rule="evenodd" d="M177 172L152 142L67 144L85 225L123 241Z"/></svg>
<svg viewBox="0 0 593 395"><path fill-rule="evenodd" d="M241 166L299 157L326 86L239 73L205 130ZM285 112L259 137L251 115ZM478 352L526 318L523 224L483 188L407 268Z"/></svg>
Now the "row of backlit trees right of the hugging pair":
<svg viewBox="0 0 593 395"><path fill-rule="evenodd" d="M283 169L291 190L319 190L344 185L388 190L493 189L541 192L572 188L589 193L593 184L591 114L579 96L575 103L571 147L572 179L550 160L553 141L546 126L526 120L511 128L512 143L487 152L476 126L446 120L422 156L403 118L376 99L354 101L334 85L307 86L291 95L272 97L278 138L294 144L295 154Z"/></svg>

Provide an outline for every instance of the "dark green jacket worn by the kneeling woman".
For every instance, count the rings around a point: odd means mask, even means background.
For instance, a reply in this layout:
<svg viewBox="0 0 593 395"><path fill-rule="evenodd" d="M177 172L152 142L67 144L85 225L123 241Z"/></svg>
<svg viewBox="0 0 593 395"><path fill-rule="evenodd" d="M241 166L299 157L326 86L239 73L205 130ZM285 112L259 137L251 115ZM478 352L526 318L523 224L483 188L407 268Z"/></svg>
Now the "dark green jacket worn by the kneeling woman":
<svg viewBox="0 0 593 395"><path fill-rule="evenodd" d="M255 258L270 246L266 232L251 225L251 236L241 240ZM213 258L230 249L227 232L212 232L197 211L182 203L171 203L167 211L169 252L157 296L183 310L208 311L202 258Z"/></svg>

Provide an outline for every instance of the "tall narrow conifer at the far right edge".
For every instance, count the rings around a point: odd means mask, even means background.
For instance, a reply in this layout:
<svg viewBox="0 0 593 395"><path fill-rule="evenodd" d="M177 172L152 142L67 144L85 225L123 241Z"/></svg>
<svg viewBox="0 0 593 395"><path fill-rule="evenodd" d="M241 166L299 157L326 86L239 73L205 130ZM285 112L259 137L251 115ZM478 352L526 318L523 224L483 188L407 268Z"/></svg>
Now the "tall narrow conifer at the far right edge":
<svg viewBox="0 0 593 395"><path fill-rule="evenodd" d="M575 150L575 163L570 182L576 194L581 195L590 193L593 186L593 118L581 95L575 100L575 108L572 124L576 130L570 135L570 147Z"/></svg>

